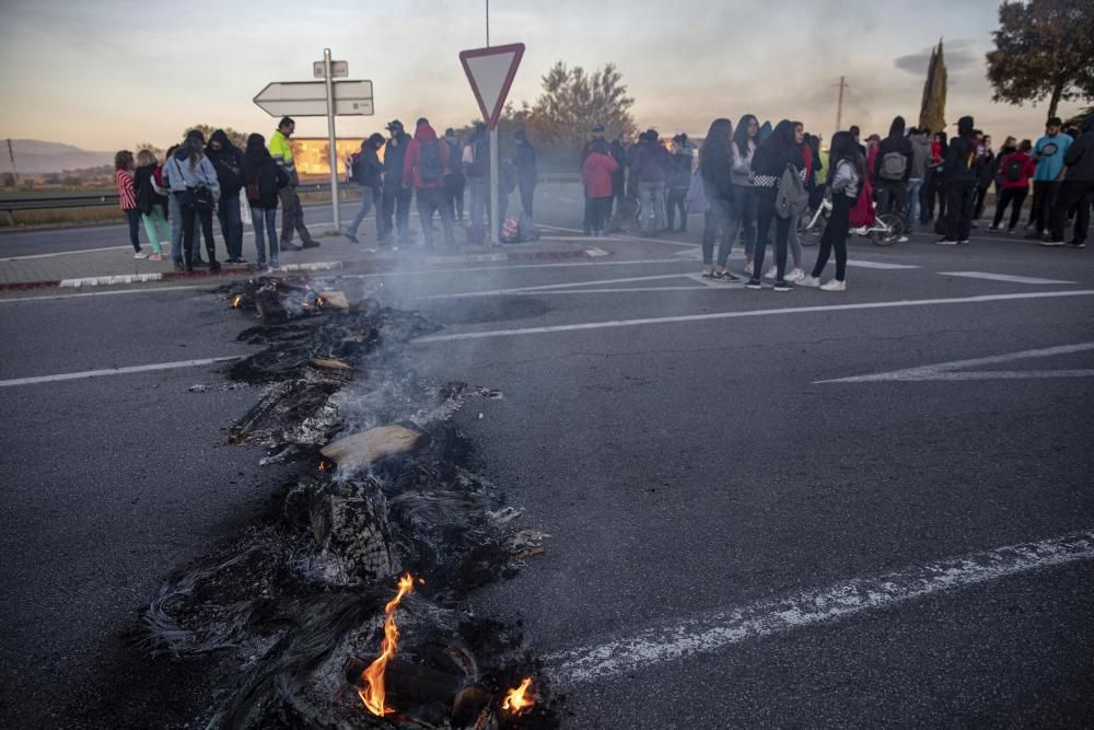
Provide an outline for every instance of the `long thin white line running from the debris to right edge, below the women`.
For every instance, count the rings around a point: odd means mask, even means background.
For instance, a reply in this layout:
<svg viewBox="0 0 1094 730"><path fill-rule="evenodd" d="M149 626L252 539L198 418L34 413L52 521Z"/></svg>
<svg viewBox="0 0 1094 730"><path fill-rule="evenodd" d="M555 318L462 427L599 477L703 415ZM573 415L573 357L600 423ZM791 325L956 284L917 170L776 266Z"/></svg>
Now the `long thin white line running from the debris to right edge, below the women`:
<svg viewBox="0 0 1094 730"><path fill-rule="evenodd" d="M520 335L543 335L557 332L580 332L583 329L606 329L613 327L636 327L648 324L677 324L682 322L706 322L715 320L735 320L741 317L767 316L777 314L805 314L813 312L842 312L852 310L894 309L904 306L934 306L943 304L977 304L982 302L1015 301L1023 299L1046 299L1055 297L1090 297L1094 289L1074 291L1045 291L1036 293L987 294L980 297L959 297L953 299L903 299L888 302L861 302L857 304L828 304L818 306L788 306L775 310L746 310L743 312L711 312L708 314L683 314L678 316L642 317L639 320L608 320L606 322L581 322L577 324L560 324L544 327L523 327L520 329L492 329L486 332L462 332L451 335L429 335L414 341L421 344L447 343L461 339L487 339L490 337L514 337Z"/></svg>

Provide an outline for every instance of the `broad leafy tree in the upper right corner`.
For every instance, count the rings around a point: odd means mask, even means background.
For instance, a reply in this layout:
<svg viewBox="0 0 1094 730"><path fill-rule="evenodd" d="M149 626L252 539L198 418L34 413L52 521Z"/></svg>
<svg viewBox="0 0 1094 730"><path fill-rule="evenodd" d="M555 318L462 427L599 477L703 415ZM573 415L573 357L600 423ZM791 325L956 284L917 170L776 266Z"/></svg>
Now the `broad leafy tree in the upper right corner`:
<svg viewBox="0 0 1094 730"><path fill-rule="evenodd" d="M1046 116L1054 117L1061 101L1094 97L1091 28L1090 0L1005 0L988 54L992 99L1022 105L1048 97Z"/></svg>

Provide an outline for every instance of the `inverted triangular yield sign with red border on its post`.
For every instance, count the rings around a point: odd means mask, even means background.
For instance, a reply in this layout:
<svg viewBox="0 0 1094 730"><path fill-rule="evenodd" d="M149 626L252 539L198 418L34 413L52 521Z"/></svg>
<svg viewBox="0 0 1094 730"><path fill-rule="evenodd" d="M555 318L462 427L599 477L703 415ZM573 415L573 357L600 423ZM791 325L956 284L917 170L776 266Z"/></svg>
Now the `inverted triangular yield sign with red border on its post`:
<svg viewBox="0 0 1094 730"><path fill-rule="evenodd" d="M487 40L489 43L489 40ZM509 89L516 78L516 69L524 56L524 44L488 46L459 53L459 62L472 84L475 101L478 102L482 120L490 130L490 243L497 245L501 230L498 210L498 118L505 107Z"/></svg>

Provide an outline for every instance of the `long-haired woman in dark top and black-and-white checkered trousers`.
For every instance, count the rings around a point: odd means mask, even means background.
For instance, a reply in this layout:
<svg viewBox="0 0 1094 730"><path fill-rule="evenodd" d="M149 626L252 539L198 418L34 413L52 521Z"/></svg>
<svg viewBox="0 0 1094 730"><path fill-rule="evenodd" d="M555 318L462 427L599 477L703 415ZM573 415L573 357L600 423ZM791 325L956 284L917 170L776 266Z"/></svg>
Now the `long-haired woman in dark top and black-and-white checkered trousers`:
<svg viewBox="0 0 1094 730"><path fill-rule="evenodd" d="M775 213L775 200L779 193L782 173L793 169L804 177L805 160L794 137L794 123L783 119L771 131L771 136L756 150L752 169L753 185L756 188L756 252L753 275L745 285L749 289L761 289L759 275L764 270L764 254L767 237L775 221L775 290L791 291L794 285L787 281L787 239L790 236L791 220Z"/></svg>

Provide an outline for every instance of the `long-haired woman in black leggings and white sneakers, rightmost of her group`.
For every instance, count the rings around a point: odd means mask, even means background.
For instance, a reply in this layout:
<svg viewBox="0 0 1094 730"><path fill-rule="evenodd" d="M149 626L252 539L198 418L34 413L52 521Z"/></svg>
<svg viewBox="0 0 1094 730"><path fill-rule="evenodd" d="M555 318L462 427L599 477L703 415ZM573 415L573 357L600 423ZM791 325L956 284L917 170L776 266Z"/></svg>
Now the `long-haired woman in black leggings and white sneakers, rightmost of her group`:
<svg viewBox="0 0 1094 730"><path fill-rule="evenodd" d="M803 287L819 287L825 291L847 289L847 234L851 228L851 208L859 199L859 188L865 177L865 161L851 132L833 135L828 153L828 188L831 190L831 215L821 236L821 250L813 273L802 279ZM821 274L836 250L836 278L821 283Z"/></svg>

